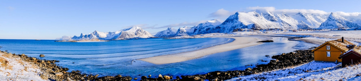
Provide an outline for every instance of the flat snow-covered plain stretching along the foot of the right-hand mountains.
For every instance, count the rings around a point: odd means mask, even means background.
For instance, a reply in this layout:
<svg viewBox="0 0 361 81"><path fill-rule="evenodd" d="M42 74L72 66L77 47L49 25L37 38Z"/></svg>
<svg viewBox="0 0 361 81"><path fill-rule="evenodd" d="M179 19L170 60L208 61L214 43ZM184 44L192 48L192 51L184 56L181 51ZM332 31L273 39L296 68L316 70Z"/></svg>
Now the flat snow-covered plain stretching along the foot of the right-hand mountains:
<svg viewBox="0 0 361 81"><path fill-rule="evenodd" d="M361 45L361 30L353 31L331 31L331 30L320 30L320 31L297 31L297 32L288 32L288 31L240 31L232 33L208 33L200 35L191 35L191 36L177 36L171 37L169 39L188 39L188 38L203 38L203 37L214 37L214 36L244 36L244 35L281 35L281 36L296 36L296 37L306 37L305 39L321 40L321 41L330 41L337 40L344 37L345 40L348 40L356 45Z"/></svg>

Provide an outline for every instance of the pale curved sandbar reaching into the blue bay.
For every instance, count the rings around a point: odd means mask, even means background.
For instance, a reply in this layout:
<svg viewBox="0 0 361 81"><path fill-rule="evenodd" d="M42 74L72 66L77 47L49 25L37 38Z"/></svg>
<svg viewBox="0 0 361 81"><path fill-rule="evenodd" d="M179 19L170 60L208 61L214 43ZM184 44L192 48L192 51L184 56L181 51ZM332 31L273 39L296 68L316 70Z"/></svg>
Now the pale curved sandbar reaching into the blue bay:
<svg viewBox="0 0 361 81"><path fill-rule="evenodd" d="M138 60L142 60L153 64L177 63L186 60L201 58L210 54L262 44L262 42L257 42L257 41L262 41L261 39L253 38L253 37L227 37L227 38L232 38L235 40L227 44L212 46L200 50L182 52L177 54L161 55L161 56L143 58Z"/></svg>

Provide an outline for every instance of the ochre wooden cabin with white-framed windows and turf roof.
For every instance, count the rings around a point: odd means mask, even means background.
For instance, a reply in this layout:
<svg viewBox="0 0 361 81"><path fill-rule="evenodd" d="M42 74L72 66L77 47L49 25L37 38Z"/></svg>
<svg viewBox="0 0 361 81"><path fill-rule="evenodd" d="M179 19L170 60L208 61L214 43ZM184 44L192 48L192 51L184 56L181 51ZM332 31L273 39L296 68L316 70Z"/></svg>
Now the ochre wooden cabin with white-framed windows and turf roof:
<svg viewBox="0 0 361 81"><path fill-rule="evenodd" d="M327 41L313 49L315 62L342 62L340 55L349 51L349 46L355 46L351 42L342 39ZM352 48L351 48L352 49Z"/></svg>

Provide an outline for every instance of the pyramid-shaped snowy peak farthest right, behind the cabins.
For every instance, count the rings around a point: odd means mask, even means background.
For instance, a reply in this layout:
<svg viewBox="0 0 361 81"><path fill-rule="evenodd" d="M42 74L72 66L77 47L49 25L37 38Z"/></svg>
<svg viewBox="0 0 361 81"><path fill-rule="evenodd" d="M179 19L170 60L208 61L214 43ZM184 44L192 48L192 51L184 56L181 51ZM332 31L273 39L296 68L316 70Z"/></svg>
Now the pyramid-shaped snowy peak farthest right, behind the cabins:
<svg viewBox="0 0 361 81"><path fill-rule="evenodd" d="M331 13L329 18L321 24L318 29L335 29L335 28L357 28L361 27L358 22L351 22L344 17Z"/></svg>

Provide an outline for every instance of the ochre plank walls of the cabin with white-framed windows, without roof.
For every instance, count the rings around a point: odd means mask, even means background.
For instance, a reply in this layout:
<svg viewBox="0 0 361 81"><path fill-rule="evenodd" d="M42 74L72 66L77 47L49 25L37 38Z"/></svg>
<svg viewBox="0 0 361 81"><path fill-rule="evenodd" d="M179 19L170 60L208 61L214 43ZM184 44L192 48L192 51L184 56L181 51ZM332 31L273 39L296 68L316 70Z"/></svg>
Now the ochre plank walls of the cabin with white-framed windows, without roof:
<svg viewBox="0 0 361 81"><path fill-rule="evenodd" d="M330 46L330 50L327 50L326 46ZM327 51L331 52L331 57L327 57ZM341 54L343 54L343 51L330 44L326 44L314 51L314 58L315 61L335 62L337 60L337 62L342 62L342 60L338 58Z"/></svg>

